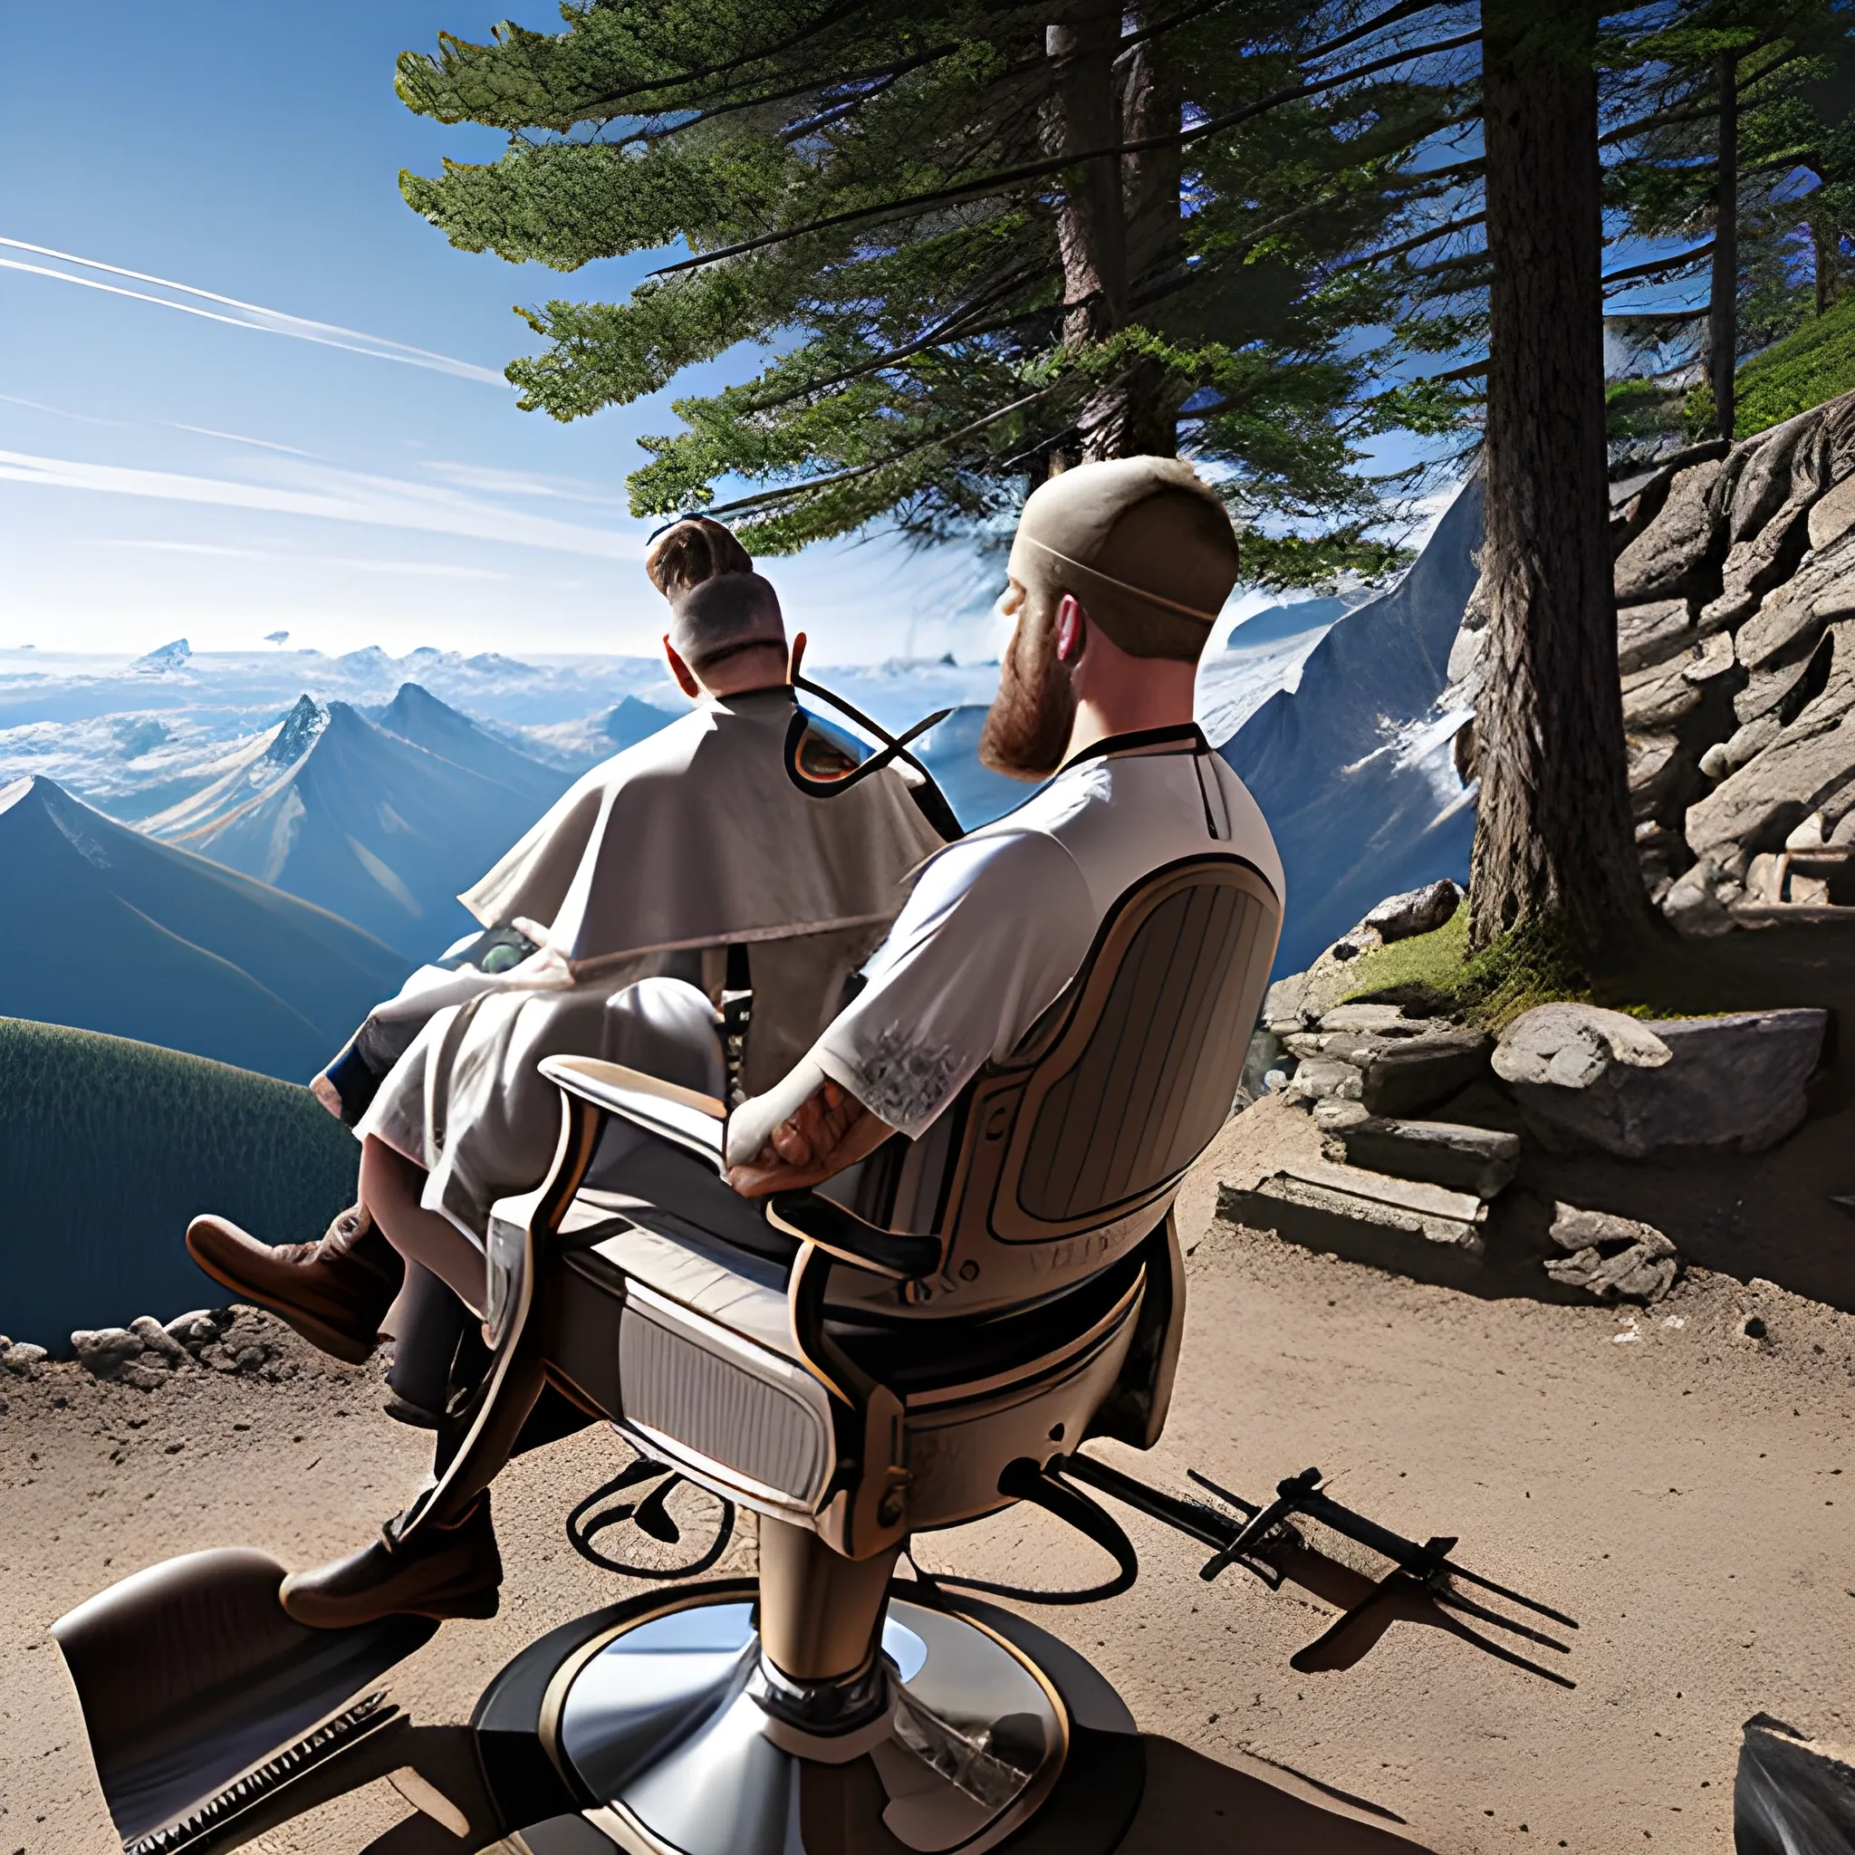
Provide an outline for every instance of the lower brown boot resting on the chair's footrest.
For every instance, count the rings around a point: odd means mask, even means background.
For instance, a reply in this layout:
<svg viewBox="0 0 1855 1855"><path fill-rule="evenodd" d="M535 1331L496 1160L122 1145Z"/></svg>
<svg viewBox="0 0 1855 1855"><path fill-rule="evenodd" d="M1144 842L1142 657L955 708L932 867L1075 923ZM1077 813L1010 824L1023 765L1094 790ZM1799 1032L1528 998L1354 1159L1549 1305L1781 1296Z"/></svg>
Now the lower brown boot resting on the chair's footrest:
<svg viewBox="0 0 1855 1855"><path fill-rule="evenodd" d="M495 1549L490 1497L453 1527L419 1527L395 1540L391 1523L373 1545L315 1571L293 1571L278 1597L312 1629L349 1629L391 1616L493 1618L503 1556Z"/></svg>

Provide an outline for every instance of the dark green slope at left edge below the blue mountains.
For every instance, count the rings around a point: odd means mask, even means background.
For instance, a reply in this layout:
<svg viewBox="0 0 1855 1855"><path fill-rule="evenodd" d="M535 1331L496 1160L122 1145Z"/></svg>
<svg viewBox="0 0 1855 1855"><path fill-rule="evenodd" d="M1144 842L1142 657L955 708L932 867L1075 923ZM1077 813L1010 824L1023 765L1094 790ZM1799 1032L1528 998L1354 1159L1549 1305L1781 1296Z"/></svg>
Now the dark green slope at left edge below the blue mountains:
<svg viewBox="0 0 1855 1855"><path fill-rule="evenodd" d="M319 1237L352 1204L358 1159L295 1083L0 1018L0 1332L69 1350L80 1326L223 1306L187 1221L223 1211L267 1241Z"/></svg>

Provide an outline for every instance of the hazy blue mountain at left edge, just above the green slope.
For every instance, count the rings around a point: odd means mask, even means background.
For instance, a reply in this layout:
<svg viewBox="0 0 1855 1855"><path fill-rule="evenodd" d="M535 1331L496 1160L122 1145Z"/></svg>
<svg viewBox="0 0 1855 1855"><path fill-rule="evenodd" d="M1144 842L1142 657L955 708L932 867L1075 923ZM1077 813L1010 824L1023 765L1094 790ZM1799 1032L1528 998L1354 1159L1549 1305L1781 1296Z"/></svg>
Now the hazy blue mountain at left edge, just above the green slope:
<svg viewBox="0 0 1855 1855"><path fill-rule="evenodd" d="M358 928L78 803L0 788L19 948L0 1015L109 1031L306 1081L408 961Z"/></svg>

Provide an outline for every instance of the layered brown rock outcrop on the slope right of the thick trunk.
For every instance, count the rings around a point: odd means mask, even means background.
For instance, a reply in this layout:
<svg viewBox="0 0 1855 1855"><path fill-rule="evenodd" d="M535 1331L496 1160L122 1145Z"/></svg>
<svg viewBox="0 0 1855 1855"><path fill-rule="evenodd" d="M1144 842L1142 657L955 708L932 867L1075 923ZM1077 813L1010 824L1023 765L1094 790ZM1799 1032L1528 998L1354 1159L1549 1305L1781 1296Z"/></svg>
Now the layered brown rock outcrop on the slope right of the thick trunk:
<svg viewBox="0 0 1855 1855"><path fill-rule="evenodd" d="M1612 545L1651 898L1690 935L1855 907L1855 395L1619 486ZM1445 710L1484 623L1471 597Z"/></svg>

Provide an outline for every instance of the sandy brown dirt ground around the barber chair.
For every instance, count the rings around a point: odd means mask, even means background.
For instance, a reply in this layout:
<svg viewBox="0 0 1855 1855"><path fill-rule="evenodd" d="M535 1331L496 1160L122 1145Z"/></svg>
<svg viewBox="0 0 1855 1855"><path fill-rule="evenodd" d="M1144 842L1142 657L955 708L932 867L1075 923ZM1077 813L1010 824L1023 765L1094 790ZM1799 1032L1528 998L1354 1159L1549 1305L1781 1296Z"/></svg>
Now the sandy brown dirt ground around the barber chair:
<svg viewBox="0 0 1855 1855"><path fill-rule="evenodd" d="M1579 1686L1415 1625L1350 1671L1297 1675L1289 1655L1324 1606L1235 1571L1204 1584L1189 1542L1122 1516L1139 1584L1037 1621L1150 1734L1126 1846L1729 1849L1744 1720L1855 1740L1855 1317L1705 1271L1619 1315L1328 1260L1215 1221L1219 1180L1254 1169L1245 1141L1254 1128L1234 1122L1182 1202L1189 1328L1165 1441L1111 1454L1174 1488L1195 1465L1252 1497L1319 1464L1339 1499L1406 1534L1460 1534L1464 1564L1580 1618ZM115 1846L54 1618L206 1545L317 1562L417 1484L423 1438L380 1415L378 1375L293 1358L278 1386L0 1376L0 1855ZM401 1670L414 1718L462 1720L525 1642L620 1595L562 1519L623 1454L584 1432L503 1477L503 1612L447 1625ZM1091 1554L1028 1510L922 1543L937 1569L1020 1579L1031 1564L1054 1582L1098 1577ZM720 1569L749 1564L744 1540ZM404 1812L377 1786L256 1846L354 1851Z"/></svg>

